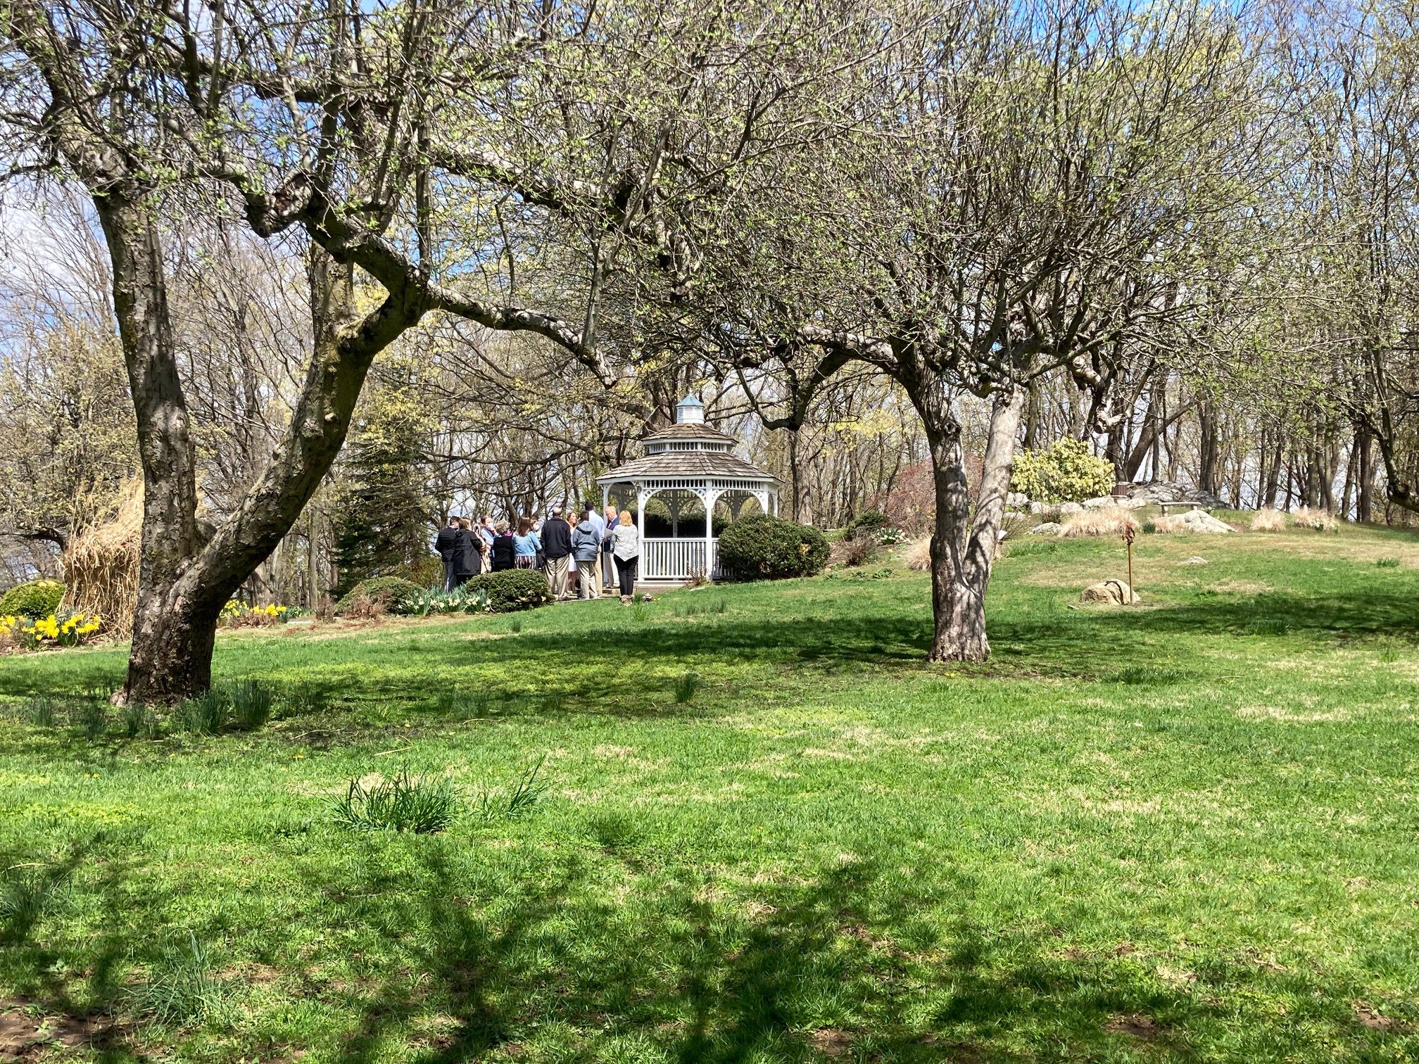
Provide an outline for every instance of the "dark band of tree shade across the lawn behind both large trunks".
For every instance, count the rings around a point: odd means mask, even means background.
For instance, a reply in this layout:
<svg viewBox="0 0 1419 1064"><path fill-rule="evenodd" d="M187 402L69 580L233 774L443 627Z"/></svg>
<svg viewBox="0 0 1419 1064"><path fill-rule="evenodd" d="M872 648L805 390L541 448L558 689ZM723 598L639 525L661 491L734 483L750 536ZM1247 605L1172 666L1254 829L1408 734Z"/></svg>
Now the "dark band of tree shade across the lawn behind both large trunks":
<svg viewBox="0 0 1419 1064"><path fill-rule="evenodd" d="M1064 604L1066 596L1060 594ZM809 600L806 600L809 602ZM553 607L570 609L570 607ZM829 609L812 603L810 611ZM880 607L878 607L880 609ZM1195 636L1203 641L1178 641L1172 654L1202 658L1206 637L1277 638L1315 643L1364 641L1376 637L1419 641L1419 610L1408 594L1256 596L1218 594L1175 604L1138 610L1087 609L1019 614L992 602L990 640L996 654L979 675L1009 678L1064 675L1090 678L1115 670L1121 661L1152 654L1149 637ZM609 614L616 617L616 614ZM673 670L695 665L756 665L765 670L812 667L824 674L843 670L901 672L924 667L931 645L931 623L925 616L900 613L841 613L755 619L742 613L705 614L694 623L656 619L646 624L607 628L602 637L563 630L525 631L492 640L468 640L453 634L441 638L380 640L360 648L358 660L331 663L335 678L315 674L305 681L319 688L322 698L341 702L419 702L433 716L475 715L458 698L440 704L438 689L457 692L460 685L478 687L467 694L477 712L502 715L610 714L619 716L684 716L692 706L668 698ZM219 674L226 675L224 647L219 647ZM575 668L587 663L636 663L641 675L622 684L616 698L607 698L604 680L595 670ZM78 694L115 681L115 663L88 657L75 670L54 674L40 670L0 672L0 697L34 694ZM339 677L342 665L359 675ZM475 667L482 677L460 680L458 670ZM424 674L417 681L412 672ZM261 675L260 671L253 672ZM444 681L444 675L450 677ZM776 682L780 672L762 674ZM756 682L745 677L746 685Z"/></svg>

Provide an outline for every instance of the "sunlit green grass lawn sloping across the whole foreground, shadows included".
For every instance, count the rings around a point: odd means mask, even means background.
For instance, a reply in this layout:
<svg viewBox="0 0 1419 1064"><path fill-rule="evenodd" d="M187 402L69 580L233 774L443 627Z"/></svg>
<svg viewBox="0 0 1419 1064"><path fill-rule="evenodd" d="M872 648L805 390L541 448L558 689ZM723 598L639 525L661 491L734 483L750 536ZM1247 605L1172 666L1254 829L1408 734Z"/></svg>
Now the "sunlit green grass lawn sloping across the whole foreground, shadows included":
<svg viewBox="0 0 1419 1064"><path fill-rule="evenodd" d="M0 660L0 1009L55 1058L1419 1057L1419 538L1144 536L1134 609L1076 606L1117 542L1025 541L979 667L890 565L224 634L326 702L250 733L31 725L123 653ZM447 831L335 821L400 766Z"/></svg>

